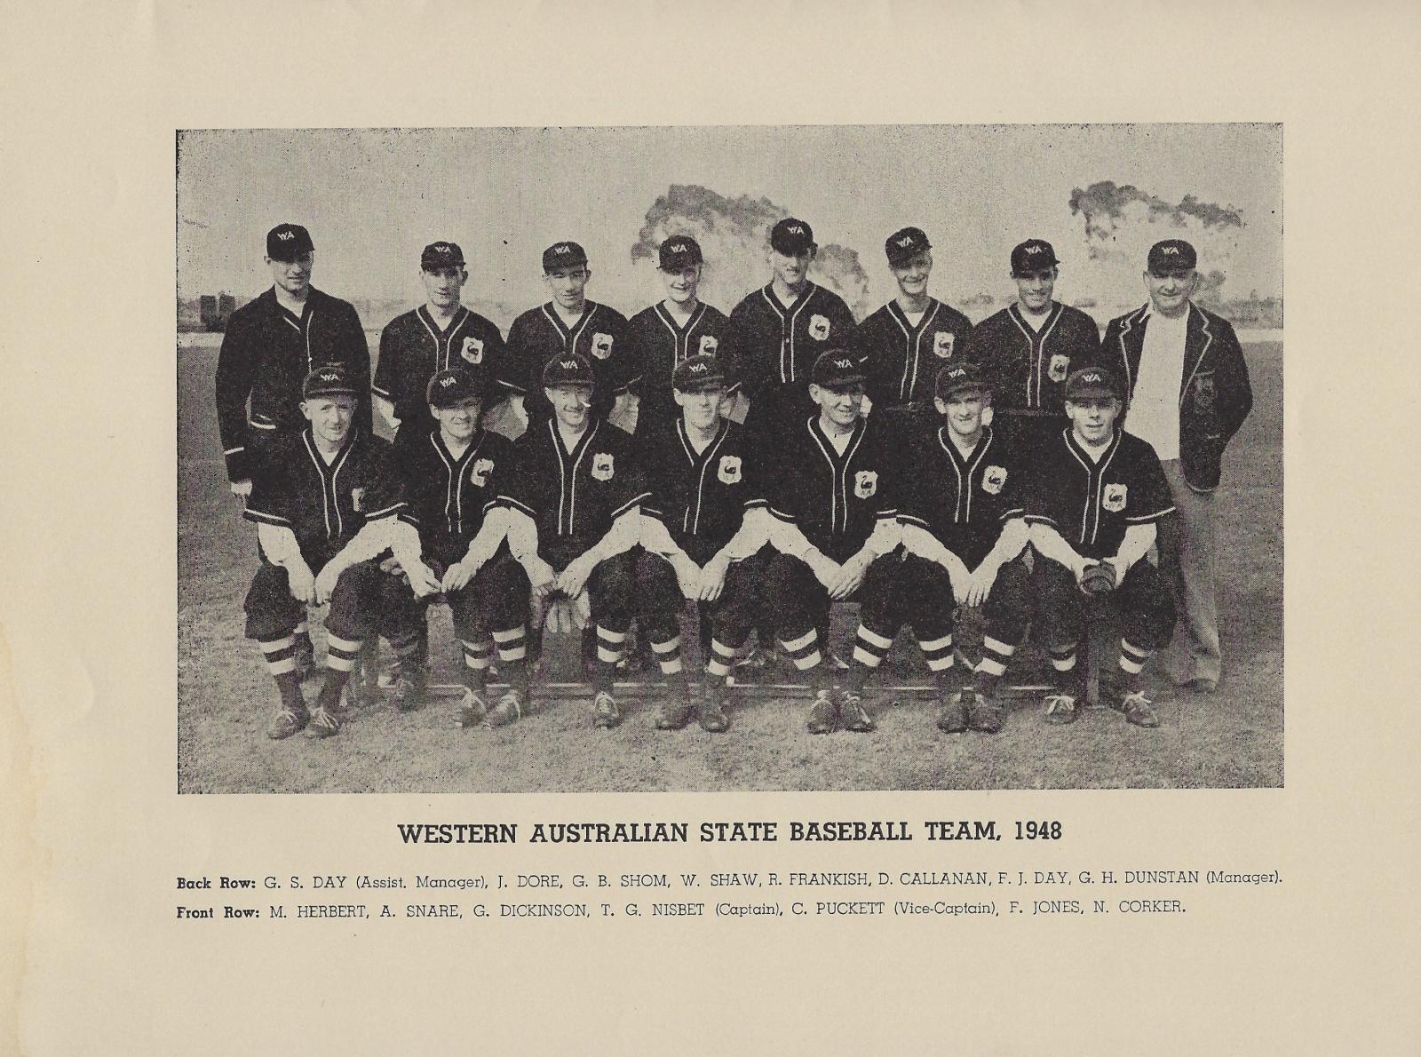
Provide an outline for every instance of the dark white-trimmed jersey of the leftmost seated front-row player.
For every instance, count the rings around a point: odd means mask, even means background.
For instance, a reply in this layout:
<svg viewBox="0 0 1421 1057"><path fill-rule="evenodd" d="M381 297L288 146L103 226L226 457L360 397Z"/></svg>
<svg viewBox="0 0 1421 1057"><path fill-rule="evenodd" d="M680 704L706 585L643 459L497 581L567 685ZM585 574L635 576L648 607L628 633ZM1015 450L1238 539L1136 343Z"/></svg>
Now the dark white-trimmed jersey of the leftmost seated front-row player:
<svg viewBox="0 0 1421 1057"><path fill-rule="evenodd" d="M306 564L320 573L367 521L395 517L405 509L389 442L352 428L327 465L306 429L273 442L243 516L290 528Z"/></svg>

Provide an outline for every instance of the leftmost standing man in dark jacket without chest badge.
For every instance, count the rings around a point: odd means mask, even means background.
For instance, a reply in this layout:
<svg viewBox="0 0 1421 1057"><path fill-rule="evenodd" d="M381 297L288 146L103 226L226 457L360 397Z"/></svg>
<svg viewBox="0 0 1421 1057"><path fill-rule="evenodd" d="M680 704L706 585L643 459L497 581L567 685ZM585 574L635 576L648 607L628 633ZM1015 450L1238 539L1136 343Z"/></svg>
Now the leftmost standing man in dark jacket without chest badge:
<svg viewBox="0 0 1421 1057"><path fill-rule="evenodd" d="M217 352L217 432L227 480L242 497L252 494L266 446L304 429L301 384L311 371L341 364L361 394L369 391L369 347L355 308L311 286L311 234L277 224L264 260L271 288L232 314ZM362 402L355 428L368 432L369 415Z"/></svg>

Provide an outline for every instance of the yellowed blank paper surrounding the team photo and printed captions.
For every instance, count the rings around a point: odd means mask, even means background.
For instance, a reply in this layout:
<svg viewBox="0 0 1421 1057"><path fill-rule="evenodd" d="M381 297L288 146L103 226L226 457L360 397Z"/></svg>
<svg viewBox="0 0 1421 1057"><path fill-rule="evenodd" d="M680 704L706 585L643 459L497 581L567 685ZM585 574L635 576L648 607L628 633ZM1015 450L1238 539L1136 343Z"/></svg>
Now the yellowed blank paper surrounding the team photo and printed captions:
<svg viewBox="0 0 1421 1057"><path fill-rule="evenodd" d="M1421 1048L1418 28L1401 4L7 11L0 1051ZM986 121L1285 124L1286 788L176 796L175 129ZM415 852L395 834L958 817L1066 837ZM1155 918L173 919L179 875L793 868L1285 882Z"/></svg>

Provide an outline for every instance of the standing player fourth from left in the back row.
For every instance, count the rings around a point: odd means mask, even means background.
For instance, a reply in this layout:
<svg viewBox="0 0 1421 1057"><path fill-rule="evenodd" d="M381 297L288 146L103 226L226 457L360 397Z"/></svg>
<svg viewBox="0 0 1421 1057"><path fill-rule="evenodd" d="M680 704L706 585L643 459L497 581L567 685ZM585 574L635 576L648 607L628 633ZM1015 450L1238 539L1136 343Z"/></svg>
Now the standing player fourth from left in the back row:
<svg viewBox="0 0 1421 1057"><path fill-rule="evenodd" d="M725 314L696 297L701 283L701 244L688 234L661 243L658 270L666 297L642 308L627 324L632 371L641 378L637 433L655 433L679 412L672 376L688 357L713 355L725 332Z"/></svg>

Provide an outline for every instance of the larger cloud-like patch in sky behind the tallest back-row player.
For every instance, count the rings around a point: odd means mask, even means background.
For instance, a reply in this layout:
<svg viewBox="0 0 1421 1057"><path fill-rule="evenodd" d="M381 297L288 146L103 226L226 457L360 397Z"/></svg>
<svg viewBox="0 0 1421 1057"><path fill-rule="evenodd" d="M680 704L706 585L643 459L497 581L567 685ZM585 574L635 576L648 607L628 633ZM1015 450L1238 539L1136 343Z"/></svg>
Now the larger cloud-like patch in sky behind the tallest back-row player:
<svg viewBox="0 0 1421 1057"><path fill-rule="evenodd" d="M672 183L647 210L645 223L631 247L632 264L652 270L657 249L672 234L689 234L701 243L706 266L701 297L729 313L755 283L769 280L764 250L770 229L790 215L766 197L726 197L695 183ZM813 226L813 219L806 217ZM840 297L863 318L871 305L868 273L858 251L836 243L821 244L810 276Z"/></svg>

